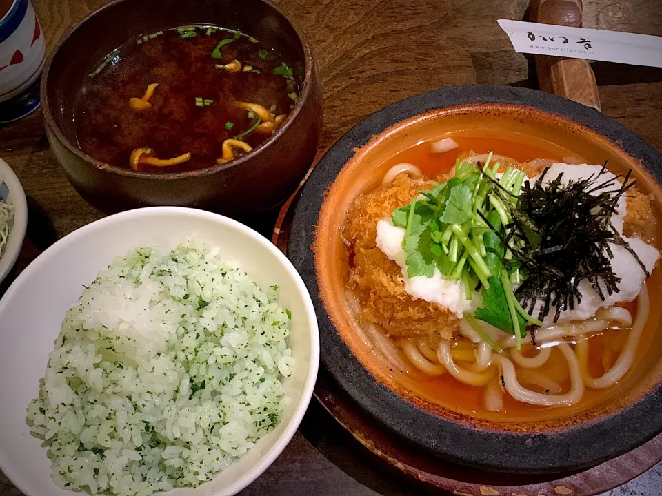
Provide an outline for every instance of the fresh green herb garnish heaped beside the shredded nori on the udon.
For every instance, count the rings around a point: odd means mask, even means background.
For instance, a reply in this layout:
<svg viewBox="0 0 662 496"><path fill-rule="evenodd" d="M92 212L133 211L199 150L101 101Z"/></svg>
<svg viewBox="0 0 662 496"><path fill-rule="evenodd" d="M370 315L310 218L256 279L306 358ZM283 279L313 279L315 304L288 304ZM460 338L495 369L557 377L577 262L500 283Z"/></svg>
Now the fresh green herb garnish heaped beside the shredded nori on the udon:
<svg viewBox="0 0 662 496"><path fill-rule="evenodd" d="M430 278L439 270L461 282L468 299L478 288L483 306L475 318L521 340L528 323L539 323L526 318L530 316L524 315L510 282L512 274L519 278L524 272L509 250L508 236L514 223L511 199L519 195L525 174L509 168L496 180L499 165L489 169L490 161L491 154L484 166L458 161L452 179L420 192L410 205L394 211L392 223L405 228L409 277ZM472 322L472 327L479 327ZM481 332L486 335L482 328ZM490 346L498 348L494 342Z"/></svg>

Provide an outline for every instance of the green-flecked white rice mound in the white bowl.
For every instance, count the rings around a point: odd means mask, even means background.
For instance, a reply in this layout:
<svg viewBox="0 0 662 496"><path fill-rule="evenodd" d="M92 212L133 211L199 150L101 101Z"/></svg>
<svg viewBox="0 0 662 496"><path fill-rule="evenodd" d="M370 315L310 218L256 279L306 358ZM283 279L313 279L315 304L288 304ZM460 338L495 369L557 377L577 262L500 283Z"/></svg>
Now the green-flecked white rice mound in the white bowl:
<svg viewBox="0 0 662 496"><path fill-rule="evenodd" d="M218 249L138 248L67 312L28 406L61 488L146 496L212 478L279 422L290 312Z"/></svg>

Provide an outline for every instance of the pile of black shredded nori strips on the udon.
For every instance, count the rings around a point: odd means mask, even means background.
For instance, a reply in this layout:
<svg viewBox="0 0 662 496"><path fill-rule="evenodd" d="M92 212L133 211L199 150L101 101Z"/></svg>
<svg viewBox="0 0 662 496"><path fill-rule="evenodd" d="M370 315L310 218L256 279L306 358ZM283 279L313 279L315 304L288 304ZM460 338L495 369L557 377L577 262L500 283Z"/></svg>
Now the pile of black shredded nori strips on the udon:
<svg viewBox="0 0 662 496"><path fill-rule="evenodd" d="M508 235L499 236L504 244L514 241L510 250L528 273L528 278L515 291L517 300L529 313L534 311L536 302L542 300L539 320L555 307L556 322L561 311L572 310L575 304L581 303L579 283L582 280L588 280L603 301L619 292L621 279L612 269L609 243L628 250L646 276L650 274L611 223L619 198L634 185L634 180L630 181L631 171L625 176L605 178L605 162L598 174L588 178L563 185L561 173L543 186L547 172L545 168L533 186L525 182L523 192L514 203L507 192L497 188L495 193L505 205L510 205L514 219L512 224L504 226ZM623 178L622 184L619 178ZM596 191L600 192L594 195ZM520 247L521 241L524 247Z"/></svg>

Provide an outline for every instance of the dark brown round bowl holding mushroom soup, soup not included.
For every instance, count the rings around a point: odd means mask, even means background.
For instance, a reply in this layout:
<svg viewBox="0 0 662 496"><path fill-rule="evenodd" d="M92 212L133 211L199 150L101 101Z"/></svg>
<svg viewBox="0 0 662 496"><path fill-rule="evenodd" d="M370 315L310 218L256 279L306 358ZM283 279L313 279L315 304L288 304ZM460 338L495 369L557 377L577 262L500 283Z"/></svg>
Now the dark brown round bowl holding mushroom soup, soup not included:
<svg viewBox="0 0 662 496"><path fill-rule="evenodd" d="M290 63L299 99L285 124L241 158L184 172L153 174L117 167L103 156L81 151L74 103L88 73L134 37L188 25L243 32ZM200 76L188 75L191 81ZM72 26L55 46L43 71L41 101L57 160L81 196L107 211L148 205L197 206L225 214L270 209L299 185L322 129L321 87L310 43L295 23L263 0L113 1Z"/></svg>

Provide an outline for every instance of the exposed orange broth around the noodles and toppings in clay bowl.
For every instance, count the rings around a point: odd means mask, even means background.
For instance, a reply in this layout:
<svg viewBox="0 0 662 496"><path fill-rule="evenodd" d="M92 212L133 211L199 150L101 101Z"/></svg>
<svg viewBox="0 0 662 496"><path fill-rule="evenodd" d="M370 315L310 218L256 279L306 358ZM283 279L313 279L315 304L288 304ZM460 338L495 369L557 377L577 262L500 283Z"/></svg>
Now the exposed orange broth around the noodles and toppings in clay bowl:
<svg viewBox="0 0 662 496"><path fill-rule="evenodd" d="M513 135L508 138L490 134L488 136L472 136L470 134L452 134L450 136L440 136L441 138L452 137L457 142L459 147L452 149L449 152L434 154L430 151L432 141L423 141L417 143L413 147L403 149L401 152L385 160L379 167L377 167L376 178L374 184L379 184L379 174L383 176L390 167L399 163L412 163L416 165L423 176L426 178L437 178L440 174L448 174L455 164L458 156L465 154L485 154L494 152L494 154L507 156L513 158L518 162L532 161L535 158L552 159L554 161L563 162L586 162L589 160L577 156L568 149L563 149L548 141L542 141L531 136ZM433 140L437 141L437 140ZM611 167L610 167L611 169ZM614 169L612 172L619 174L621 170ZM646 192L645 185L640 185L641 189ZM659 206L653 205L654 212L659 215ZM661 239L659 223L655 227L656 239ZM344 246L344 245L343 245ZM659 247L659 245L656 245ZM348 282L348 273L352 267L352 254L351 250L345 247L345 251L341 253L341 259L345 266L345 282ZM650 291L650 300L656 301L659 297L661 286L661 276L659 269L653 271L652 276L648 279L647 287ZM352 291L348 291L346 298L355 299ZM629 302L621 304L632 314L634 319L636 316L636 302ZM357 303L352 302L350 308L358 308ZM643 329L639 347L636 350L636 358L634 365L630 368L628 373L619 380L614 386L607 389L590 389L585 388L583 397L579 402L572 406L536 406L524 402L514 400L507 392L503 393L503 411L492 412L485 409L485 392L484 386L468 386L453 378L449 373L443 373L437 377L430 377L417 370L414 366L410 365L408 358L405 357L401 347L394 340L387 339L390 343L390 350L388 353L397 353L399 358L399 365L394 364L392 360L383 358L383 353L380 351L385 344L377 344L375 346L374 336L370 331L366 330L360 323L361 316L357 316L354 324L357 332L361 335L361 339L368 343L373 348L372 353L378 355L385 363L392 378L399 383L405 391L410 391L415 397L419 397L432 404L457 411L473 417L480 417L485 420L495 420L501 422L534 422L539 420L558 419L559 417L570 417L582 411L592 409L594 406L615 400L624 391L632 388L636 381L641 378L641 375L646 372L647 368L652 364L657 357L654 353L648 353L649 350L660 349L662 346L657 329L660 324L661 309L656 307L655 304L651 305L650 315ZM627 342L629 328L616 327L610 325L609 329L599 331L590 335L588 369L592 377L599 377L605 373L619 357L625 342ZM572 340L565 340L571 342ZM470 347L470 342L463 337L454 339L454 349L467 349ZM574 345L573 345L574 346ZM461 356L461 352L455 352ZM508 353L508 352L507 352ZM525 344L522 349L522 354L525 357L536 355L537 351L532 344ZM456 360L459 366L467 366L468 362L461 362ZM497 369L492 366L493 369ZM516 365L518 378L521 378L520 366ZM535 374L543 375L547 380L558 384L561 392L565 393L570 389L570 375L568 369L568 362L565 360L563 353L556 346L552 347L550 358L543 364L543 366L536 369L526 369L534 371ZM530 374L525 371L524 376ZM494 374L496 378L496 373ZM532 386L525 384L528 389L538 393L549 393L540 386Z"/></svg>

